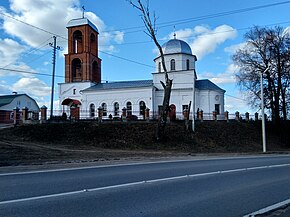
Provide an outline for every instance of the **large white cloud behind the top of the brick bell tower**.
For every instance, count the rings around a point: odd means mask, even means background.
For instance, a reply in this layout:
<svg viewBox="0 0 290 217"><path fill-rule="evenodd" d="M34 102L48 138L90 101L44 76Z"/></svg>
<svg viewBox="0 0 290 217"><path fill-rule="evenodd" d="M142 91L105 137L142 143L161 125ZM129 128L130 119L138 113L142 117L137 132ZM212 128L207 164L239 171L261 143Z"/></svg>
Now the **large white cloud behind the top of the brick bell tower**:
<svg viewBox="0 0 290 217"><path fill-rule="evenodd" d="M32 47L38 47L49 39L52 34L67 38L67 29L65 28L68 21L82 16L82 10L79 8L79 0L11 0L11 13L3 16L3 29L6 33L15 36ZM22 22L44 29L45 31L25 25ZM85 12L85 16L94 23L100 32L99 44L108 45L112 41L117 43L123 42L122 32L110 32L103 34L107 27L104 22L93 12ZM66 43L67 44L67 43ZM66 44L64 44L66 46ZM64 47L66 50L66 47Z"/></svg>

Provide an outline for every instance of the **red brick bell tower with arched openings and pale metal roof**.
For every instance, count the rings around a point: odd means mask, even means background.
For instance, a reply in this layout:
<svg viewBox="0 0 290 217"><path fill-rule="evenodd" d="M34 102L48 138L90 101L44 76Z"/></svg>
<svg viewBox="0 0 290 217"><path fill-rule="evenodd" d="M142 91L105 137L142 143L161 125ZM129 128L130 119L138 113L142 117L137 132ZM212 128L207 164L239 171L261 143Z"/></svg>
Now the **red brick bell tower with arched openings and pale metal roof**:
<svg viewBox="0 0 290 217"><path fill-rule="evenodd" d="M87 18L79 18L69 21L67 29L68 54L65 54L65 83L101 83L97 27Z"/></svg>

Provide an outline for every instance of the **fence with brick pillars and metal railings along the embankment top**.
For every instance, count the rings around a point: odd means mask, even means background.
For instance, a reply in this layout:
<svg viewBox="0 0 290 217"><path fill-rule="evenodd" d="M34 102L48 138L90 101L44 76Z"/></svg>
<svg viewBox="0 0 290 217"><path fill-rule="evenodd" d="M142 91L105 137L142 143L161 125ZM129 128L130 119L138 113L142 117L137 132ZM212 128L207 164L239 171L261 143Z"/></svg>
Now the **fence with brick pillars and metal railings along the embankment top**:
<svg viewBox="0 0 290 217"><path fill-rule="evenodd" d="M127 111L126 109L122 110L54 110L53 115L50 115L49 110L46 107L42 107L40 112L32 112L28 109L14 109L11 111L0 111L0 123L44 123L46 121L79 121L79 120L114 120L114 121L138 121L138 120L157 120L159 119L160 114L158 112L152 112L149 109L143 111ZM194 115L188 114L188 112L175 112L170 111L168 114L168 121L175 120L195 120L199 121L258 121L261 119L261 115L258 113L249 114L240 114L239 112L229 113L228 111L218 114L217 112L204 113L202 111L194 113Z"/></svg>

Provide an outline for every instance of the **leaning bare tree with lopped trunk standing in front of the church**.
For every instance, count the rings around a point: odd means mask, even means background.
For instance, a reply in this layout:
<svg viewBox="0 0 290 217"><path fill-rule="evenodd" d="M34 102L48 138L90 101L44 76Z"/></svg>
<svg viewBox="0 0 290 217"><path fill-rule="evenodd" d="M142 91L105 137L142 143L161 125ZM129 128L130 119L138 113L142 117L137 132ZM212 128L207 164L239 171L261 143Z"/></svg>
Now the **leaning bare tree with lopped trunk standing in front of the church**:
<svg viewBox="0 0 290 217"><path fill-rule="evenodd" d="M141 12L141 18L147 30L145 33L154 41L155 45L157 46L160 53L160 57L161 57L161 64L164 70L165 83L163 81L160 81L164 89L163 106L162 106L161 114L158 120L157 129L156 129L156 134L155 134L156 140L160 141L164 139L164 130L165 130L167 116L169 112L172 79L169 79L168 77L168 73L167 73L167 69L165 65L164 53L156 37L157 35L156 26L155 26L156 16L154 13L153 18L151 17L150 10L149 10L149 0L147 0L146 6L144 6L141 0L137 0L137 3L134 3L133 0L128 0L128 1L134 8L138 9Z"/></svg>

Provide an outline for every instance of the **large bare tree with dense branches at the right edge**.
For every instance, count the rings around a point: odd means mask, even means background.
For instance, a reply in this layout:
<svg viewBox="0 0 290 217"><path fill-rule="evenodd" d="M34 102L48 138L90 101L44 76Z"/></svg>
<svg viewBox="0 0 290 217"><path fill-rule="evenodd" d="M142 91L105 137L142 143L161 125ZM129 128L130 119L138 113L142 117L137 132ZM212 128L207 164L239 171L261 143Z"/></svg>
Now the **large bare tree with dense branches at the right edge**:
<svg viewBox="0 0 290 217"><path fill-rule="evenodd" d="M233 56L240 67L238 84L250 92L250 102L257 106L261 99L260 75L271 65L264 78L265 106L276 124L287 119L290 84L290 37L281 27L253 27L245 34L246 46Z"/></svg>

